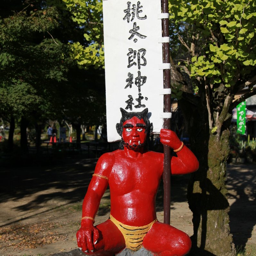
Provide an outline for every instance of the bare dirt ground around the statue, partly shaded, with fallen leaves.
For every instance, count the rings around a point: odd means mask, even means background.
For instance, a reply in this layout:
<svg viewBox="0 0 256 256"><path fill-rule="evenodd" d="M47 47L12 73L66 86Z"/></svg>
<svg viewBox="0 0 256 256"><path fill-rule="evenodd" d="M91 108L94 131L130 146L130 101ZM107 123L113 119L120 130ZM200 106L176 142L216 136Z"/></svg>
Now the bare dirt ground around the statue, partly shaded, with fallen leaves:
<svg viewBox="0 0 256 256"><path fill-rule="evenodd" d="M96 159L41 164L1 170L0 256L46 256L77 248L82 200ZM236 245L245 246L251 256L256 255L255 167L231 165L228 175L231 232ZM171 224L192 235L192 214L186 201L188 178L172 178ZM157 217L163 221L162 187L157 202ZM96 224L108 218L109 207L106 191Z"/></svg>

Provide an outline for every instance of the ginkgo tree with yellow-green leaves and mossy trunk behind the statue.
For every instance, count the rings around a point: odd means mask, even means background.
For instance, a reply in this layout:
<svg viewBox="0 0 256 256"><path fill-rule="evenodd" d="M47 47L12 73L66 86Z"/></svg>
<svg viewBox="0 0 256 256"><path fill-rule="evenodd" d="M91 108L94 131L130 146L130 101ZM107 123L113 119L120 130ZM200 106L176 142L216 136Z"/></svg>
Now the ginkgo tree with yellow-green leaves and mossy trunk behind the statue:
<svg viewBox="0 0 256 256"><path fill-rule="evenodd" d="M88 29L90 47L75 43L73 58L84 67L103 66L102 2L62 1ZM169 13L172 95L200 162L188 186L194 226L190 255L234 256L226 162L232 109L255 94L255 1L169 0Z"/></svg>

